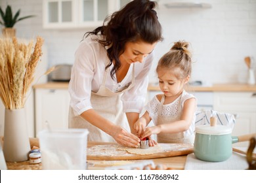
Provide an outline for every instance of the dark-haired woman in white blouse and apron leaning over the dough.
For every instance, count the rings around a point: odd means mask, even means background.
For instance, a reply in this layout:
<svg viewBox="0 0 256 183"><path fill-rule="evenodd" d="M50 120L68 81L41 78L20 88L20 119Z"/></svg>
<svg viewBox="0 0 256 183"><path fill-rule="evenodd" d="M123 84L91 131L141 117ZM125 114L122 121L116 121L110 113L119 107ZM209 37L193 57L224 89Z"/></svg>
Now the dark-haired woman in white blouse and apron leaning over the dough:
<svg viewBox="0 0 256 183"><path fill-rule="evenodd" d="M69 127L89 129L89 141L139 146L133 125L144 106L152 52L162 39L155 5L131 1L86 33L75 52Z"/></svg>

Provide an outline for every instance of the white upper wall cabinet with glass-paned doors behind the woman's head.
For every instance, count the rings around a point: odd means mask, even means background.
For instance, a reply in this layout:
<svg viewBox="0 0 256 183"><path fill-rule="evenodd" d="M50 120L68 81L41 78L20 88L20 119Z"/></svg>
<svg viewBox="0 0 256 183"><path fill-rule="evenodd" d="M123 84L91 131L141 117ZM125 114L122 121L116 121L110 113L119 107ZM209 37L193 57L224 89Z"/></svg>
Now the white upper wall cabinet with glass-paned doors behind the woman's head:
<svg viewBox="0 0 256 183"><path fill-rule="evenodd" d="M44 28L98 27L130 0L43 0Z"/></svg>

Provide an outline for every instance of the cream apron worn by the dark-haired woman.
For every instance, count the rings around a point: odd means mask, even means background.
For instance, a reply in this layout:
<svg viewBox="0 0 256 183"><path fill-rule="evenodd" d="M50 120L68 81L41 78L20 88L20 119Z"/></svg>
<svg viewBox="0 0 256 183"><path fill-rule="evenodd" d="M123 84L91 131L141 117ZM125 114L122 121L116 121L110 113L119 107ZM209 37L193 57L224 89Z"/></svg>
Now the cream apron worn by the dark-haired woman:
<svg viewBox="0 0 256 183"><path fill-rule="evenodd" d="M121 93L132 88L135 84L135 67L133 65L132 81L129 86L124 88L121 92L112 92L106 88L106 77L110 73L110 68L104 72L104 77L98 92L91 92L91 104L93 109L100 114L100 116L108 119L110 122L120 125L127 131L130 131L129 123L125 113L122 111ZM102 141L102 142L115 142L114 139L99 129L95 125L90 124L81 116L75 116L74 110L70 107L69 112L69 127L70 128L85 128L89 130L88 141Z"/></svg>

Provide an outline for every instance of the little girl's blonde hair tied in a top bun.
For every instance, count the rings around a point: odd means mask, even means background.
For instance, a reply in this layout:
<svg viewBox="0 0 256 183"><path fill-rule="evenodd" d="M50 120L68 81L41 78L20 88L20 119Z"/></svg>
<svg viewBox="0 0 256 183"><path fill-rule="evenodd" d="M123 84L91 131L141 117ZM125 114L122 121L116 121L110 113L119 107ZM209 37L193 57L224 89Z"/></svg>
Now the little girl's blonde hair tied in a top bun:
<svg viewBox="0 0 256 183"><path fill-rule="evenodd" d="M175 42L171 50L161 57L156 72L158 73L159 69L173 69L176 71L175 76L179 79L190 76L192 59L188 45L189 43L185 41Z"/></svg>

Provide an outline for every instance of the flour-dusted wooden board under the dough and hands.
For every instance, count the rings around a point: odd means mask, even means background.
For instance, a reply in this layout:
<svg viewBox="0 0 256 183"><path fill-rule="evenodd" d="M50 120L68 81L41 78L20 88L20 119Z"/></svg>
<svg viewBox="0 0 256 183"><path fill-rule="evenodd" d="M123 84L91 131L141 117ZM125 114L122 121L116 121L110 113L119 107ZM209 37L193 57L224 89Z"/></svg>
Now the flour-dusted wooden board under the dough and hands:
<svg viewBox="0 0 256 183"><path fill-rule="evenodd" d="M129 148L133 149L133 148ZM194 152L192 144L159 143L158 148L140 149L143 154L131 154L119 144L102 144L87 148L89 160L132 160L182 156ZM150 153L150 154L148 154Z"/></svg>

